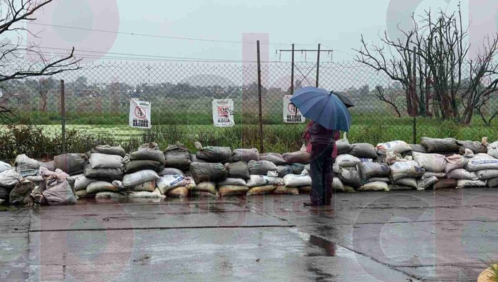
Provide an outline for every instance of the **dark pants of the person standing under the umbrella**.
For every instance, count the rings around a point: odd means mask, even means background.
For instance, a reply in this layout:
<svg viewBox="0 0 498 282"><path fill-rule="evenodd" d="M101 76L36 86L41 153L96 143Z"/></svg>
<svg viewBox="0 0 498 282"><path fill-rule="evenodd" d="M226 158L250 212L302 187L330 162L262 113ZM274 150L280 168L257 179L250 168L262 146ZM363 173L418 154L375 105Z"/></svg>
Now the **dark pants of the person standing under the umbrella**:
<svg viewBox="0 0 498 282"><path fill-rule="evenodd" d="M332 144L312 144L311 152L311 177L312 191L309 194L312 204L327 205L332 203L332 180L334 173L332 171Z"/></svg>

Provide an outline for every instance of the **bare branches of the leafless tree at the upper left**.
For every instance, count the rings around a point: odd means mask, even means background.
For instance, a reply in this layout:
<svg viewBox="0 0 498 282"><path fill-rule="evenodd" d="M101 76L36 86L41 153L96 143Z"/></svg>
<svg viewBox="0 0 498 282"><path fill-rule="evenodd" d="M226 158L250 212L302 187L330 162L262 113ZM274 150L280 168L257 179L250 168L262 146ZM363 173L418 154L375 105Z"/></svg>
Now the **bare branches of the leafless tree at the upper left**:
<svg viewBox="0 0 498 282"><path fill-rule="evenodd" d="M0 0L0 36L17 38L16 41L0 43L0 83L44 75L55 75L63 71L80 68L81 59L75 58L72 48L67 54L46 56L39 46L26 42L23 33L29 33L26 22L36 21L36 11L51 4L53 0ZM32 34L32 33L30 33ZM33 34L38 36L38 34ZM9 120L14 109L8 105L0 108L0 119Z"/></svg>

